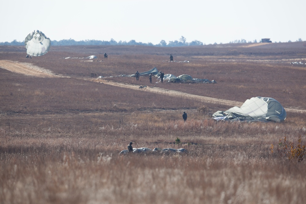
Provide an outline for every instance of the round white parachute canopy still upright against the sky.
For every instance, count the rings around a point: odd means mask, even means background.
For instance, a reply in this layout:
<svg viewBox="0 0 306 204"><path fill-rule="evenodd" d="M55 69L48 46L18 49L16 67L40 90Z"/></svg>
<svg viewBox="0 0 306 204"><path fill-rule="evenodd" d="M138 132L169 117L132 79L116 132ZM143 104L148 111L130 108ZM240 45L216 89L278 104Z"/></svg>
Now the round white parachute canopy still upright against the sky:
<svg viewBox="0 0 306 204"><path fill-rule="evenodd" d="M42 56L49 51L51 40L39 30L34 30L25 38L24 44L28 55Z"/></svg>

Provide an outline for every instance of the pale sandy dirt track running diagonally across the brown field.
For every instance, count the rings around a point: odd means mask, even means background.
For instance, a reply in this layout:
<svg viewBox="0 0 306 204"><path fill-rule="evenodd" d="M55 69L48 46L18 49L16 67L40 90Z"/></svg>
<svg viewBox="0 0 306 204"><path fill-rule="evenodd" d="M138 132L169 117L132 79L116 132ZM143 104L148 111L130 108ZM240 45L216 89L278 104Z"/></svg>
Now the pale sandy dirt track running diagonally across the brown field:
<svg viewBox="0 0 306 204"><path fill-rule="evenodd" d="M16 61L9 61L9 60L0 60L0 68L9 70L11 72L24 74L27 76L35 76L35 77L65 77L61 75L55 75L53 72L51 72L48 69L44 69L29 63L21 63ZM80 79L83 80L83 79ZM148 91L153 92L157 94L163 94L163 95L169 95L169 96L175 96L175 97L188 97L194 100L198 100L205 103L212 103L212 104L220 104L220 105L226 105L226 106L241 106L243 102L237 102L237 101L230 101L230 100L224 100L224 99L218 99L218 98L210 98L206 96L200 96L200 95L193 95L188 94L181 91L175 91L175 90L168 90L163 89L159 87L145 87L145 88L139 88L139 85L133 85L128 83L119 83L119 82L113 82L108 81L105 79L86 79L93 82L98 83L104 83L111 86L116 87L122 87L122 88L129 88L134 89L137 91ZM295 113L306 113L306 110L300 110L300 109L285 109L287 112L295 112Z"/></svg>

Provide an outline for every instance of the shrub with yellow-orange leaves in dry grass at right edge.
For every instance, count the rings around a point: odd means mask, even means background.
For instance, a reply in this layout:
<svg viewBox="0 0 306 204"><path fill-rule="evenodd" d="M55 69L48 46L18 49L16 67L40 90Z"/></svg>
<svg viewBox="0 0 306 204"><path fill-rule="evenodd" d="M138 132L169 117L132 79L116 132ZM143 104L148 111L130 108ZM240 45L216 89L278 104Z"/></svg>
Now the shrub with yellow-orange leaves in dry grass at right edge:
<svg viewBox="0 0 306 204"><path fill-rule="evenodd" d="M273 144L271 145L271 153L273 153ZM278 152L282 157L288 157L289 160L303 161L306 156L306 145L302 144L301 135L298 136L297 145L294 142L287 142L286 137L279 139Z"/></svg>

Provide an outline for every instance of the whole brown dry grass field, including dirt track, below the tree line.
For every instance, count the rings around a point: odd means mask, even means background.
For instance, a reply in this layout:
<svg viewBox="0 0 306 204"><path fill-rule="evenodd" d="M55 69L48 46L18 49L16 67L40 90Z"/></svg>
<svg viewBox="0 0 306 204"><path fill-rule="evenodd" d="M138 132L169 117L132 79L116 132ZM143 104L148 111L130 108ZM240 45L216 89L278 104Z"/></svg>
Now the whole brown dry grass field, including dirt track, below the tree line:
<svg viewBox="0 0 306 204"><path fill-rule="evenodd" d="M170 54L189 63L170 63ZM305 42L25 55L0 46L0 203L306 202L306 65L290 63L306 63ZM217 83L118 77L154 67ZM211 118L256 96L278 100L286 120ZM188 152L119 154L130 141Z"/></svg>

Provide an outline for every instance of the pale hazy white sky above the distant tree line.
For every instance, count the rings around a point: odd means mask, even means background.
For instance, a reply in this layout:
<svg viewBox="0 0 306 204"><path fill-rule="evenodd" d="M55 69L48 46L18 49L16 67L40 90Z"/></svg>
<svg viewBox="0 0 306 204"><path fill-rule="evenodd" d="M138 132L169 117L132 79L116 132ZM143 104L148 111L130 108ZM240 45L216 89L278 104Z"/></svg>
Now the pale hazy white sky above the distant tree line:
<svg viewBox="0 0 306 204"><path fill-rule="evenodd" d="M33 30L57 41L304 41L305 9L305 0L10 0L1 2L0 42Z"/></svg>

